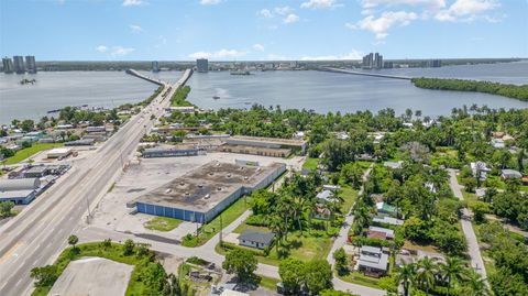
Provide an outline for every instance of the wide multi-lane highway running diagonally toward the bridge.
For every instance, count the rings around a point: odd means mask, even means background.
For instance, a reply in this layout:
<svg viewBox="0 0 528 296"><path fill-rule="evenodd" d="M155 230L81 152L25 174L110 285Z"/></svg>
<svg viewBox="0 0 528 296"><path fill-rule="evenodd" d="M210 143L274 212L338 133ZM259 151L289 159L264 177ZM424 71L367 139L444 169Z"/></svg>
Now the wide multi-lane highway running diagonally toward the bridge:
<svg viewBox="0 0 528 296"><path fill-rule="evenodd" d="M30 295L30 271L53 263L67 244L87 208L96 205L135 153L141 136L168 106L174 91L191 75L186 70L163 99L160 95L103 143L92 155L76 161L70 172L0 228L0 295ZM170 86L164 84L165 90ZM165 91L162 91L164 94Z"/></svg>

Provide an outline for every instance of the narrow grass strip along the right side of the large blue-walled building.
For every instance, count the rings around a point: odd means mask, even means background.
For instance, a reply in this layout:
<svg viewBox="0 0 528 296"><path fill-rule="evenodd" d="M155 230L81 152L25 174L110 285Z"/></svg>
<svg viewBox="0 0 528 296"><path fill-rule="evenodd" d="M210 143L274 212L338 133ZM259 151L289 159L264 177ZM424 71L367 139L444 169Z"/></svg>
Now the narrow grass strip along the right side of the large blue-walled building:
<svg viewBox="0 0 528 296"><path fill-rule="evenodd" d="M220 226L223 228L232 223L239 218L245 210L250 208L250 196L243 196L239 200L229 206L222 213L217 216L212 221L200 228L198 237L194 235L193 239L184 238L182 244L185 246L198 246L206 243L220 230ZM220 223L220 220L222 223Z"/></svg>

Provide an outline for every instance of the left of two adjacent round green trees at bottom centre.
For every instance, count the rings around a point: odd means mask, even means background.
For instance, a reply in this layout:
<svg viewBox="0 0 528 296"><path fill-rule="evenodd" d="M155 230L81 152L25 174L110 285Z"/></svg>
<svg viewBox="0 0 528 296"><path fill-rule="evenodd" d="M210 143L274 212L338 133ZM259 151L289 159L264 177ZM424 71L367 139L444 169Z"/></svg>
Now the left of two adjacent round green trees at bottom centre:
<svg viewBox="0 0 528 296"><path fill-rule="evenodd" d="M288 295L298 295L305 283L306 266L300 260L288 257L280 261L278 275Z"/></svg>

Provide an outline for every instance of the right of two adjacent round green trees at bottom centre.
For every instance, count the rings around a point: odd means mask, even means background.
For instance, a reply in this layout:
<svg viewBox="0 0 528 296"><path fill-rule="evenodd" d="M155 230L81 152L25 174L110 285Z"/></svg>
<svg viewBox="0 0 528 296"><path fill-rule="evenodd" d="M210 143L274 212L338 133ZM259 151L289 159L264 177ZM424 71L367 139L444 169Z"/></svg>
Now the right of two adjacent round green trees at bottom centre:
<svg viewBox="0 0 528 296"><path fill-rule="evenodd" d="M332 287L332 267L326 260L306 263L306 286L312 295Z"/></svg>

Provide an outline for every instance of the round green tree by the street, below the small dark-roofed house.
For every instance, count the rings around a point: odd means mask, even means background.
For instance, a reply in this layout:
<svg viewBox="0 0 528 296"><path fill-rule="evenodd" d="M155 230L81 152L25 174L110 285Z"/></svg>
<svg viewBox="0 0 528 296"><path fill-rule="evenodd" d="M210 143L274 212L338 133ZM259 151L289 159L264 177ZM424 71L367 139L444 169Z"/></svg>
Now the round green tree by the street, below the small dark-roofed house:
<svg viewBox="0 0 528 296"><path fill-rule="evenodd" d="M228 273L237 274L240 282L246 283L255 278L254 272L256 271L257 264L258 262L253 253L237 249L226 255L222 267Z"/></svg>

